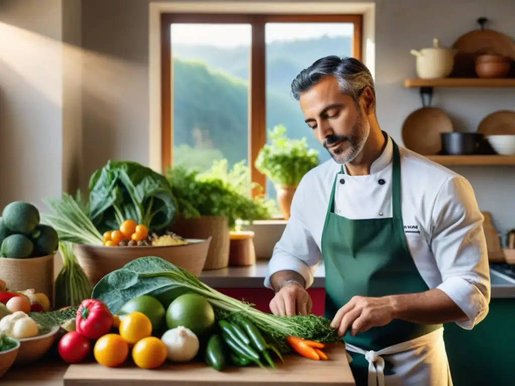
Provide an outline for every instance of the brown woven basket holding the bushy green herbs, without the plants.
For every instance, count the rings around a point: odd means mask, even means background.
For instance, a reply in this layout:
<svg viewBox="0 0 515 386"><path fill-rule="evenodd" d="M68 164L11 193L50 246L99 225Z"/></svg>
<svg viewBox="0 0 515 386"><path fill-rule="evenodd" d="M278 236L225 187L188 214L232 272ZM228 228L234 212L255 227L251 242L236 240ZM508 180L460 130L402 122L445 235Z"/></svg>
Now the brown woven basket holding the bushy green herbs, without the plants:
<svg viewBox="0 0 515 386"><path fill-rule="evenodd" d="M204 271L229 266L229 225L222 216L202 216L196 219L178 218L170 230L185 238L212 237Z"/></svg>

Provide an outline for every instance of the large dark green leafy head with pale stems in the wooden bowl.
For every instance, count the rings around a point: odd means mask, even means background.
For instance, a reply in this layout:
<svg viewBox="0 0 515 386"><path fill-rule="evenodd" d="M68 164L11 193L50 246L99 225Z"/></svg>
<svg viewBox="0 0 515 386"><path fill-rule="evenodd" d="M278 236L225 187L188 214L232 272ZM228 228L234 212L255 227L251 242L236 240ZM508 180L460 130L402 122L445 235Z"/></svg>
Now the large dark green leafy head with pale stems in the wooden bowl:
<svg viewBox="0 0 515 386"><path fill-rule="evenodd" d="M176 201L166 178L137 162L110 160L90 178L90 217L97 229L118 229L132 219L150 232L175 218Z"/></svg>

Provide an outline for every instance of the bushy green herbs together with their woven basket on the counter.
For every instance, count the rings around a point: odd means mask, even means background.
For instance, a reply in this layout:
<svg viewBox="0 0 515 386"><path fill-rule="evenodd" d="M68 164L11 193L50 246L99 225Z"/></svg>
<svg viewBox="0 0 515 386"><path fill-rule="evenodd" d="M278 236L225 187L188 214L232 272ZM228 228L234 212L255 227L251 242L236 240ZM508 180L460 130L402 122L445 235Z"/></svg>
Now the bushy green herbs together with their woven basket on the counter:
<svg viewBox="0 0 515 386"><path fill-rule="evenodd" d="M178 203L179 216L171 230L188 238L213 238L204 270L229 265L230 232L238 219L270 217L270 203L250 197L253 185L244 161L231 170L227 160L215 161L202 173L168 168L166 177Z"/></svg>

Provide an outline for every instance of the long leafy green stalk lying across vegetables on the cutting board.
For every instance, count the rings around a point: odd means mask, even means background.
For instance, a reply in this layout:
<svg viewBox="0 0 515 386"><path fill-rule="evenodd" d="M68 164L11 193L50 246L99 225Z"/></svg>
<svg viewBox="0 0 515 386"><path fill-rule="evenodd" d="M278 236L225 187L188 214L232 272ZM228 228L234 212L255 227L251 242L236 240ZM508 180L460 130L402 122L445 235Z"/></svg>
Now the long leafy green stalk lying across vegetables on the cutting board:
<svg viewBox="0 0 515 386"><path fill-rule="evenodd" d="M93 289L92 297L116 312L126 302L141 295L156 296L165 307L177 296L194 292L215 308L218 319L237 321L244 315L259 327L270 343L282 353L289 352L284 340L289 335L322 342L341 341L330 320L315 315L278 317L261 312L252 305L233 299L200 282L186 270L159 257L141 257L104 276ZM238 316L239 315L239 316Z"/></svg>

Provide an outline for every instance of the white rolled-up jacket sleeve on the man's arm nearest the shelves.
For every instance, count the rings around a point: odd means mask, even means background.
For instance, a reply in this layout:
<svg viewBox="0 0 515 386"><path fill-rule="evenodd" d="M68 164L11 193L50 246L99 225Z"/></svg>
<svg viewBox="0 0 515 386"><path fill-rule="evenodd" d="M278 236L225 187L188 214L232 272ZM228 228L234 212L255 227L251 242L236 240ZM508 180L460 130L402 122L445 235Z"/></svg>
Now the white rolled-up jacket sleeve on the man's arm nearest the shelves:
<svg viewBox="0 0 515 386"><path fill-rule="evenodd" d="M433 208L431 248L445 292L467 315L456 322L472 329L485 319L490 303L490 267L484 216L470 183L461 176L441 186Z"/></svg>

